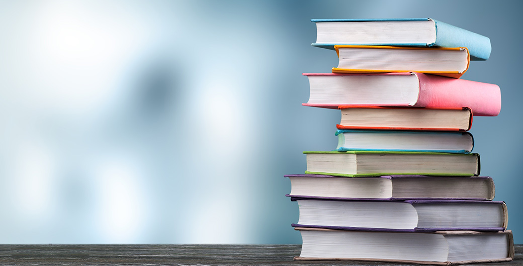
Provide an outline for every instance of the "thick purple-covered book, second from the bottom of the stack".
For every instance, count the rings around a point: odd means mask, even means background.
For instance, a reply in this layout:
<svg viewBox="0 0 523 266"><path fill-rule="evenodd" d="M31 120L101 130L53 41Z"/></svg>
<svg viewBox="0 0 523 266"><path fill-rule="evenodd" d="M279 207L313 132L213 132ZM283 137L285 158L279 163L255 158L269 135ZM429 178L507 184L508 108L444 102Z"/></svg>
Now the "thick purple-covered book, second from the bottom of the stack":
<svg viewBox="0 0 523 266"><path fill-rule="evenodd" d="M508 223L503 201L291 200L297 201L300 209L294 227L390 232L504 231Z"/></svg>

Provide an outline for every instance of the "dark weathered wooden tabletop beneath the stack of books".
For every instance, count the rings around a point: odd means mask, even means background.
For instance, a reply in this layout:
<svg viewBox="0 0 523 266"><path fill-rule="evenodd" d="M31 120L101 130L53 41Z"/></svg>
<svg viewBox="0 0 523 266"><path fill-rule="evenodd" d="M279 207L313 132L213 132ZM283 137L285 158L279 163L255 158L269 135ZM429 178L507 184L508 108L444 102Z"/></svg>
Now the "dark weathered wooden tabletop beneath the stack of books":
<svg viewBox="0 0 523 266"><path fill-rule="evenodd" d="M0 245L0 265L402 265L293 261L300 248L300 245ZM514 261L473 265L523 265L523 245L516 245Z"/></svg>

